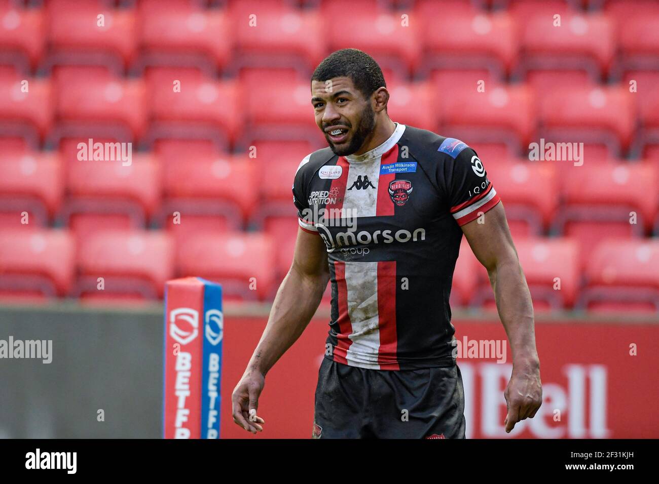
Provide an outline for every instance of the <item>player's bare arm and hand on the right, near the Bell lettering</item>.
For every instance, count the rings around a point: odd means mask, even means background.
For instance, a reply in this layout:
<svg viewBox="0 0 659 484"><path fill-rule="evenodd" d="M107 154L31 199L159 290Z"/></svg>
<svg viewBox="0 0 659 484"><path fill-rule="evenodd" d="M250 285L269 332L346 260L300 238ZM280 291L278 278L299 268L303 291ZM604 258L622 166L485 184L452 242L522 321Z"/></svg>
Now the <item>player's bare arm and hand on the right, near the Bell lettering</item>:
<svg viewBox="0 0 659 484"><path fill-rule="evenodd" d="M484 223L471 221L462 227L469 246L484 265L494 290L496 306L511 346L513 375L505 391L508 414L505 431L517 421L532 418L542 403L540 360L535 344L533 306L503 203L484 215Z"/></svg>

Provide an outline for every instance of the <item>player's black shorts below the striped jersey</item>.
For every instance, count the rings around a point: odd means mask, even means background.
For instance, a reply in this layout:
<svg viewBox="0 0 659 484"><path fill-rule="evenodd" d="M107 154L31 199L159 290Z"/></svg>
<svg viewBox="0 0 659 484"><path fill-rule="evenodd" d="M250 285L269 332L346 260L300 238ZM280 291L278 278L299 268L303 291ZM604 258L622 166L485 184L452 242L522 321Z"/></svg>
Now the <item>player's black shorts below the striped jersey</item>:
<svg viewBox="0 0 659 484"><path fill-rule="evenodd" d="M324 358L318 371L318 439L464 439L465 392L457 365L377 370Z"/></svg>

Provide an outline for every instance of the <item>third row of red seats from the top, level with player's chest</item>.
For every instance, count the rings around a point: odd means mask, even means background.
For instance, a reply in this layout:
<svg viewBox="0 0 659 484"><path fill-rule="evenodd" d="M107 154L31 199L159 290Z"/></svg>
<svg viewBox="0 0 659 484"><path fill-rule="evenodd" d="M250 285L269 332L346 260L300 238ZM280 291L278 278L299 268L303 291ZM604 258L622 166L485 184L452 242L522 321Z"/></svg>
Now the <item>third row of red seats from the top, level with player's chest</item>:
<svg viewBox="0 0 659 484"><path fill-rule="evenodd" d="M85 145L86 146L86 145ZM188 230L263 228L294 217L291 184L303 147L249 155L163 160L153 153L123 161L63 162L53 153L0 156L3 227L64 225L84 236L96 227ZM260 153L260 151L256 151ZM516 236L551 230L594 244L602 236L643 236L659 230L659 161L584 163L486 160L488 177L507 208ZM190 219L194 219L191 222Z"/></svg>

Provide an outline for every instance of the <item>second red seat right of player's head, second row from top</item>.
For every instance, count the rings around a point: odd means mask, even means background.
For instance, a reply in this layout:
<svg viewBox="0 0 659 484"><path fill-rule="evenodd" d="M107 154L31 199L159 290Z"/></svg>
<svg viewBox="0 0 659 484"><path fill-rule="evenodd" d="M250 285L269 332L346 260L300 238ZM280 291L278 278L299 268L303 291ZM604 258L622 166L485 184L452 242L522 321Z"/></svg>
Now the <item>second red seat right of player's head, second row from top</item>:
<svg viewBox="0 0 659 484"><path fill-rule="evenodd" d="M526 86L489 86L455 91L438 106L445 136L469 142L505 142L514 146L528 144L535 131L534 100Z"/></svg>

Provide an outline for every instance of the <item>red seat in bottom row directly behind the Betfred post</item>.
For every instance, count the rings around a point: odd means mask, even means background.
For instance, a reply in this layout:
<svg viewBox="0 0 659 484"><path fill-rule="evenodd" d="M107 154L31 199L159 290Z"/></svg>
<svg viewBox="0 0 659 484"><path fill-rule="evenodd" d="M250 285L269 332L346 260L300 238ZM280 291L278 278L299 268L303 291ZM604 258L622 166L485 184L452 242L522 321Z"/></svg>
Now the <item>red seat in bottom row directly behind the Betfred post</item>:
<svg viewBox="0 0 659 484"><path fill-rule="evenodd" d="M179 243L182 277L196 275L222 284L227 298L265 300L273 296L275 244L260 233L198 234Z"/></svg>

